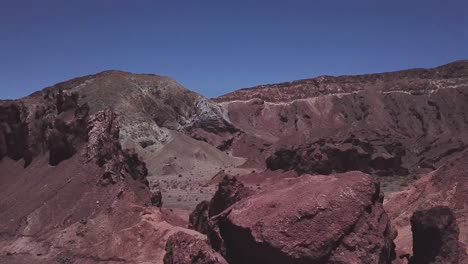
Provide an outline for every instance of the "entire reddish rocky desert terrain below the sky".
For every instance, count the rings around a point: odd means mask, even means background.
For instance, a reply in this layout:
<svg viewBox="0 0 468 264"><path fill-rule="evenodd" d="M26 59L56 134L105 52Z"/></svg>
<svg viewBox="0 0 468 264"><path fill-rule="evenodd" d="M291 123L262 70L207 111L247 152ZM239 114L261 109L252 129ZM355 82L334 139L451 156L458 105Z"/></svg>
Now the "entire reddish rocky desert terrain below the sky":
<svg viewBox="0 0 468 264"><path fill-rule="evenodd" d="M465 263L467 102L467 61L0 101L0 262Z"/></svg>

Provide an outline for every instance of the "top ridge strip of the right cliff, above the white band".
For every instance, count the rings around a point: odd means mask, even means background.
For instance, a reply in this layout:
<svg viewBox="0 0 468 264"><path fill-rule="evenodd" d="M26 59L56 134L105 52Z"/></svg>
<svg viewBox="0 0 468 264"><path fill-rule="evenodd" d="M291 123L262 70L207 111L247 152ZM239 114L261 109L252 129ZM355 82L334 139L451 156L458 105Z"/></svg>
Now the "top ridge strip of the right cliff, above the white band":
<svg viewBox="0 0 468 264"><path fill-rule="evenodd" d="M324 95L346 95L368 89L379 92L420 94L439 88L466 85L468 61L457 61L433 69L411 69L389 73L350 76L320 76L278 84L245 88L215 98L216 102L261 99L266 102L291 102Z"/></svg>

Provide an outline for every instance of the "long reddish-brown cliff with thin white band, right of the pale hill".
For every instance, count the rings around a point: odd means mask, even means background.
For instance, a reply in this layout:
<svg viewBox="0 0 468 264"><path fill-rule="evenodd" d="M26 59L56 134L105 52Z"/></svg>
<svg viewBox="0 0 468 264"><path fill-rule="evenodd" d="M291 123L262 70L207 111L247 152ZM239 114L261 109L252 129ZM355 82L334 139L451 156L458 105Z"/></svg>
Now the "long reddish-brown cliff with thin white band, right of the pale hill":
<svg viewBox="0 0 468 264"><path fill-rule="evenodd" d="M351 143L360 145L363 155L381 156L384 162L395 156L399 164L391 166L401 166L400 174L405 169L418 174L441 166L468 143L467 61L427 70L263 85L214 100L241 131L232 133L228 142L234 155L260 166L286 150L326 167L310 153L327 145L320 155L339 152L346 160L353 157L351 152L336 146ZM393 153L395 148L398 153ZM328 170L342 171L343 161L337 164Z"/></svg>

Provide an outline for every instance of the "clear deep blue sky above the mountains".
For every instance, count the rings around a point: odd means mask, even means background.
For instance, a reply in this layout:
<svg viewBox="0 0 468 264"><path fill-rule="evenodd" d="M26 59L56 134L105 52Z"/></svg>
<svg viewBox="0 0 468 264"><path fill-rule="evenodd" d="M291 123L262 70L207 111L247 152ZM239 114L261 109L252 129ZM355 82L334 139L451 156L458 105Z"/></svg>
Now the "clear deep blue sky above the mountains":
<svg viewBox="0 0 468 264"><path fill-rule="evenodd" d="M467 0L0 0L0 98L108 69L213 97L467 58Z"/></svg>

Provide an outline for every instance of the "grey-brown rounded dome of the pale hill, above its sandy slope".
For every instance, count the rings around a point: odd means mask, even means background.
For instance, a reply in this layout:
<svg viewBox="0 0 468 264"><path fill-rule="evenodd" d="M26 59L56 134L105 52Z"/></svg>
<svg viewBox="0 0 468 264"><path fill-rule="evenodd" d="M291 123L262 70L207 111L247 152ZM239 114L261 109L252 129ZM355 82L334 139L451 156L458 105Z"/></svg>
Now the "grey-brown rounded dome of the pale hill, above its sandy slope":
<svg viewBox="0 0 468 264"><path fill-rule="evenodd" d="M79 103L89 105L91 114L108 108L115 111L122 126L121 141L129 146L160 147L171 140L168 129L188 129L199 119L220 114L219 107L169 77L122 71L58 83L25 99L57 91L76 93Z"/></svg>

